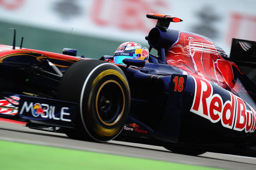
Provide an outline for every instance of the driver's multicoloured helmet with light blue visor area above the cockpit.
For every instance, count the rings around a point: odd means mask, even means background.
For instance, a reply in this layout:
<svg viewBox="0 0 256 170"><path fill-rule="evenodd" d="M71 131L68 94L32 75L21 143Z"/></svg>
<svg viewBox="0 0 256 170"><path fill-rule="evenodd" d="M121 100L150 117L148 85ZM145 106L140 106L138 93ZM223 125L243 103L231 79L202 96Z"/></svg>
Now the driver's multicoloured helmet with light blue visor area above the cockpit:
<svg viewBox="0 0 256 170"><path fill-rule="evenodd" d="M122 43L114 53L114 63L121 64L125 58L134 58L148 62L150 52L144 46L136 42Z"/></svg>

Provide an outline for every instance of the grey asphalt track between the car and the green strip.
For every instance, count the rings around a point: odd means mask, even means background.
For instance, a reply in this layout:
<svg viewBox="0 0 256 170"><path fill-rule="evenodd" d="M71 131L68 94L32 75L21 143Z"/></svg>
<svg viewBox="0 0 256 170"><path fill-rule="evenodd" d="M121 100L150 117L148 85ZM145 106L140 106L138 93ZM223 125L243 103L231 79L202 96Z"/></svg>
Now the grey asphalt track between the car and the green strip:
<svg viewBox="0 0 256 170"><path fill-rule="evenodd" d="M0 122L0 140L224 169L256 169L256 158L253 157L217 153L188 156L169 152L163 147L146 144L114 140L107 143L87 142L70 139L65 134L33 130L23 125L8 122Z"/></svg>

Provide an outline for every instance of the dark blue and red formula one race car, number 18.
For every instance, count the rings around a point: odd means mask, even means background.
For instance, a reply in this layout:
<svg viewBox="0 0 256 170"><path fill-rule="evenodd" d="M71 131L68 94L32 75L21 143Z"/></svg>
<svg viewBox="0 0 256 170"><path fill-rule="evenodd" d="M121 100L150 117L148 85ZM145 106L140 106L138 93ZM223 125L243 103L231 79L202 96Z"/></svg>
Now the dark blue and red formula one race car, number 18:
<svg viewBox="0 0 256 170"><path fill-rule="evenodd" d="M146 36L157 56L121 46L121 59L96 60L15 47L15 36L0 45L1 117L75 139L256 156L256 85L238 67L255 68L255 42L234 39L227 57L204 36L168 29L181 19L146 16L157 19Z"/></svg>

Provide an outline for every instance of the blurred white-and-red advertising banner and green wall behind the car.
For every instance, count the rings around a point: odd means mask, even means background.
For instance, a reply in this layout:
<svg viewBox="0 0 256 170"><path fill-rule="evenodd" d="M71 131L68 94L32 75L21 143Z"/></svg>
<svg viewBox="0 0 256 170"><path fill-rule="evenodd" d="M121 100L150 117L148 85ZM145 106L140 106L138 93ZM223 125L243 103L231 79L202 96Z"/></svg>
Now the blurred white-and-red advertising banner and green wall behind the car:
<svg viewBox="0 0 256 170"><path fill-rule="evenodd" d="M0 0L0 44L78 55L112 55L120 43L135 41L148 47L145 36L156 21L147 13L183 19L169 28L204 35L229 55L232 38L256 41L254 0ZM71 35L72 33L72 35Z"/></svg>

